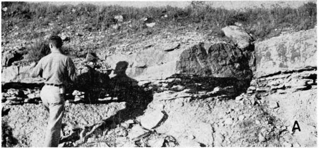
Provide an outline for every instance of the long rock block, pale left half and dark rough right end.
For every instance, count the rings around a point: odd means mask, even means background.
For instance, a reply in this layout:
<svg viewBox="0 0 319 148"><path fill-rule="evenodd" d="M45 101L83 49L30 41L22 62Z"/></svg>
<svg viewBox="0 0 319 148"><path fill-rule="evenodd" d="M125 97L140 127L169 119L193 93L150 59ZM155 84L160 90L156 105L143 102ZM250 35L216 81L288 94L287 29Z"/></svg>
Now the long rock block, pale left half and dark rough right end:
<svg viewBox="0 0 319 148"><path fill-rule="evenodd" d="M130 55L106 58L113 69L119 61L127 61L126 73L137 81L160 80L173 75L250 79L249 60L249 51L244 52L225 42L181 45L169 52L152 47Z"/></svg>

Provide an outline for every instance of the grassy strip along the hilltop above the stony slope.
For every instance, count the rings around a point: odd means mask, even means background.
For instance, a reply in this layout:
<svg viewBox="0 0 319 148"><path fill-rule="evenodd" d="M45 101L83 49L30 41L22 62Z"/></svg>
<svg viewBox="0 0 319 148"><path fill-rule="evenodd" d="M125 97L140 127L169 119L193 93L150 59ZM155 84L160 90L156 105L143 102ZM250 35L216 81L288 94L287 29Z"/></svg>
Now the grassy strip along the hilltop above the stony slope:
<svg viewBox="0 0 319 148"><path fill-rule="evenodd" d="M226 10L214 8L202 1L193 1L185 8L172 6L164 7L123 7L118 5L96 6L93 4L79 5L54 5L27 2L2 2L2 7L7 7L7 12L2 11L2 19L12 17L19 19L16 22L2 22L2 30L8 30L12 24L18 23L24 27L27 22L34 22L33 28L48 25L51 21L72 22L81 19L89 24L90 30L106 30L117 23L116 15L122 15L124 21L139 22L143 17L152 18L154 21L167 15L167 21L189 24L196 22L211 28L223 28L235 22L257 38L267 38L278 35L281 30L307 30L317 24L317 4L308 2L299 8L281 7L273 5L271 8L245 8L242 10ZM132 30L140 31L142 27L132 26Z"/></svg>

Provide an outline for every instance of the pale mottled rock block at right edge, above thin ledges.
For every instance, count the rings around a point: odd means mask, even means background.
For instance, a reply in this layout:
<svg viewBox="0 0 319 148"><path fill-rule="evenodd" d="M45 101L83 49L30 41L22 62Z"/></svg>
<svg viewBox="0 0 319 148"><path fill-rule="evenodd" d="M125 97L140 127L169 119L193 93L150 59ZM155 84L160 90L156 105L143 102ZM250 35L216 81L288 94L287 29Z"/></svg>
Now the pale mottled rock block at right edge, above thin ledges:
<svg viewBox="0 0 319 148"><path fill-rule="evenodd" d="M317 30L282 34L255 44L256 78L317 67Z"/></svg>

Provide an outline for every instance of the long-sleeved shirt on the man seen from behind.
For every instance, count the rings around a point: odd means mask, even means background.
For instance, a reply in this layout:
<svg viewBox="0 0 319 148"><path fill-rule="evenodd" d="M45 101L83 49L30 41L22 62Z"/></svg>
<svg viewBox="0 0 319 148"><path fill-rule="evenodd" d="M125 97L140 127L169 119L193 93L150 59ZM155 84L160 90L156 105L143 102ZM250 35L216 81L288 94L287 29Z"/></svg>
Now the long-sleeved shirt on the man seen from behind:
<svg viewBox="0 0 319 148"><path fill-rule="evenodd" d="M71 58L52 52L39 60L32 69L31 76L41 76L46 84L65 85L68 81L75 82L76 72Z"/></svg>

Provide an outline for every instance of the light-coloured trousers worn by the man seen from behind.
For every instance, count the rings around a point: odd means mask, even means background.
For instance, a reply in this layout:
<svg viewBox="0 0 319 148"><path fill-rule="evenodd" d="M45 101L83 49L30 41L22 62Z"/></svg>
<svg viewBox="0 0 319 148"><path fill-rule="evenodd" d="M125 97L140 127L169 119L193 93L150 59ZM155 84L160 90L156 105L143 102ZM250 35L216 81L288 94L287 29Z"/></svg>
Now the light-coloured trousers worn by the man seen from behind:
<svg viewBox="0 0 319 148"><path fill-rule="evenodd" d="M45 109L49 112L44 147L58 147L64 114L64 94L60 93L59 87L45 85L40 92L40 97Z"/></svg>

